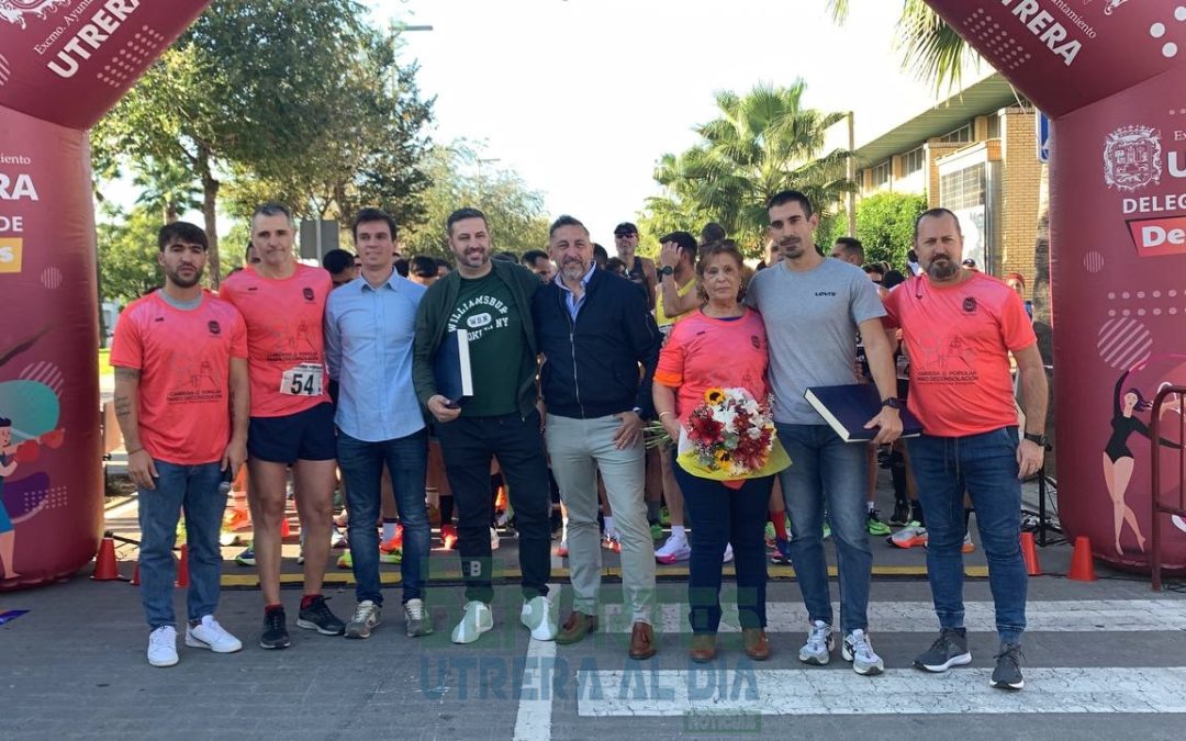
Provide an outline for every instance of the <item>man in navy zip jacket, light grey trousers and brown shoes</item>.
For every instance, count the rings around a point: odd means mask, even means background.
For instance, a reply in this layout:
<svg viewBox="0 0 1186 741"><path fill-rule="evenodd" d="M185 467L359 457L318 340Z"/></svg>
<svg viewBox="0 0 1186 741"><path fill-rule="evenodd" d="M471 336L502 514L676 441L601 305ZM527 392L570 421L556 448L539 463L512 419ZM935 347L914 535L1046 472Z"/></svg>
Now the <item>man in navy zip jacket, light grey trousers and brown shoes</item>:
<svg viewBox="0 0 1186 741"><path fill-rule="evenodd" d="M556 277L531 300L544 357L540 387L544 441L568 510L573 612L556 637L570 644L598 627L601 538L597 474L601 473L621 543L621 581L633 613L630 656L655 654L655 556L643 502L643 417L659 333L642 293L598 269L588 230L570 216L553 223L548 253Z"/></svg>

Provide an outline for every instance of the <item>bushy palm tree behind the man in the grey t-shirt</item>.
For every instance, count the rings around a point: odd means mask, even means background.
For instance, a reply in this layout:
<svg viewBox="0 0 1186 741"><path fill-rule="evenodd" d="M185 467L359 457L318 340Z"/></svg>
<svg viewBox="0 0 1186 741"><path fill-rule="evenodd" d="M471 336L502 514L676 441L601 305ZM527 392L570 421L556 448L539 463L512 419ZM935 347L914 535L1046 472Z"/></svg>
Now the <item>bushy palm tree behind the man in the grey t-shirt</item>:
<svg viewBox="0 0 1186 741"><path fill-rule="evenodd" d="M719 92L720 117L695 129L702 141L659 160L655 178L664 194L648 200L643 223L694 231L715 221L747 254L760 255L766 200L788 189L804 192L827 222L855 189L846 177L852 153L824 151L825 132L844 114L804 107L805 87L801 79L746 95Z"/></svg>

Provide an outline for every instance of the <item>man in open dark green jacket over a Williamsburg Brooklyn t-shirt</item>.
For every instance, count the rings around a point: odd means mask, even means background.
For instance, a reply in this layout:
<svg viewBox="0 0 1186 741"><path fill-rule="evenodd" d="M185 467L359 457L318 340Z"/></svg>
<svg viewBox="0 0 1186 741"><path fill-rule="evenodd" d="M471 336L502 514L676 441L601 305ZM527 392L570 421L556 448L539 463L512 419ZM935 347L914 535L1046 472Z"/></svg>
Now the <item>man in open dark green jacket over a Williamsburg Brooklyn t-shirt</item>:
<svg viewBox="0 0 1186 741"><path fill-rule="evenodd" d="M420 302L413 359L416 396L436 420L436 436L458 510L458 551L465 577L465 614L453 643L467 644L493 627L490 601L490 464L498 456L519 534L521 621L536 640L556 637L548 594L551 509L547 458L536 409L536 340L531 296L540 279L512 262L492 261L486 217L459 209L446 225L457 270L433 283ZM440 394L438 354L466 333L472 395ZM442 373L444 369L440 369Z"/></svg>

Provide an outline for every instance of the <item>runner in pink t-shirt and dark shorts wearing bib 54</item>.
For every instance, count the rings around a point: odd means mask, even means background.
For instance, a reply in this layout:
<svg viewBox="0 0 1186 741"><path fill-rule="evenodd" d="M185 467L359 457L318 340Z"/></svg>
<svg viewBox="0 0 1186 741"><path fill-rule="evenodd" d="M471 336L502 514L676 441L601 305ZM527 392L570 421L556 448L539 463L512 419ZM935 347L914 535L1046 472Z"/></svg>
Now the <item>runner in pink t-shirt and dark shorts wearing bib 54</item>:
<svg viewBox="0 0 1186 741"><path fill-rule="evenodd" d="M337 439L325 371L325 300L330 274L296 262L292 215L264 204L251 216L251 244L260 262L229 276L222 296L247 321L251 421L248 429L248 504L255 525L255 560L263 592L264 649L289 645L280 602L280 529L288 467L305 532L305 594L296 626L342 635L345 624L321 596L330 556Z"/></svg>

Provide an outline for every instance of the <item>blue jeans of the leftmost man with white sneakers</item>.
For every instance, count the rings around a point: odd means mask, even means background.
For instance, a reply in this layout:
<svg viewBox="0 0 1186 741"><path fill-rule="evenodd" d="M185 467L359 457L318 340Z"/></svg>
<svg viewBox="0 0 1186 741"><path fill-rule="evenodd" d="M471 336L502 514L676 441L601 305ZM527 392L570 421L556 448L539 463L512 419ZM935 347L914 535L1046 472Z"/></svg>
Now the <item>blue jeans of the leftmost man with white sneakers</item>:
<svg viewBox="0 0 1186 741"><path fill-rule="evenodd" d="M177 563L173 544L177 520L185 510L185 539L190 555L190 590L186 595L190 620L215 614L218 607L222 529L227 494L218 493L223 480L219 464L179 466L153 460L157 488L139 491L140 511L140 601L148 627L176 625L173 582Z"/></svg>

